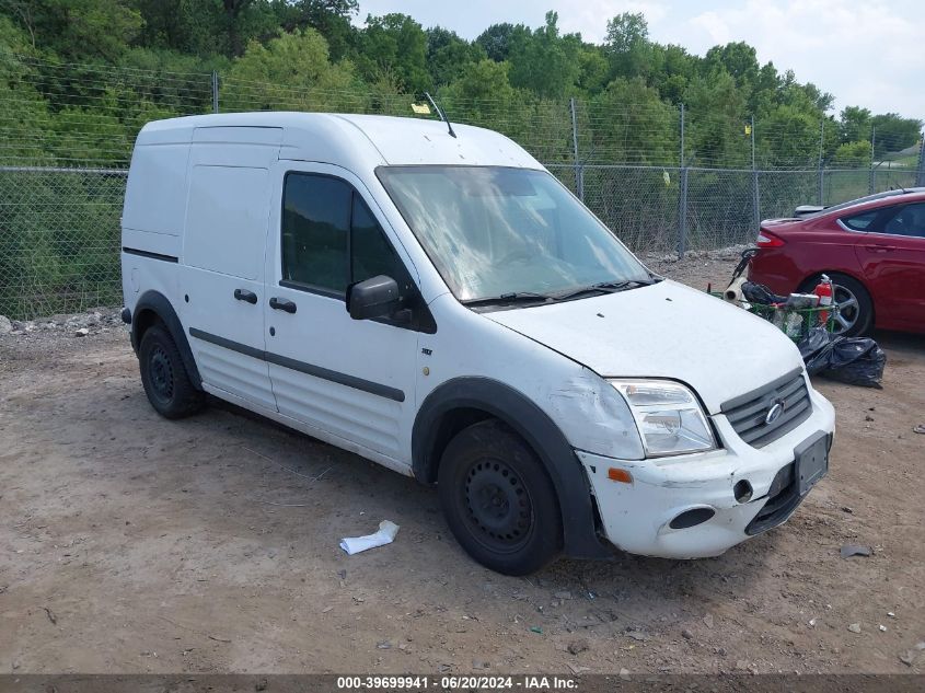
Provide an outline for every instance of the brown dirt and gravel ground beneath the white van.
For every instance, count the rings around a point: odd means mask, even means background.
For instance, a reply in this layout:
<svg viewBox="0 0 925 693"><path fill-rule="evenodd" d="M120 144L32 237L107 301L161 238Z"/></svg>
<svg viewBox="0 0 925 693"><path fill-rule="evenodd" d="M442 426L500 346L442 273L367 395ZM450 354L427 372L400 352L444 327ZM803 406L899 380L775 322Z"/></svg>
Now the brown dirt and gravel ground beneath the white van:
<svg viewBox="0 0 925 693"><path fill-rule="evenodd" d="M698 288L735 264L650 262ZM158 417L124 330L89 332L0 336L0 672L925 669L925 337L877 335L883 390L816 383L831 471L783 527L509 578L411 478L220 404ZM382 519L395 543L338 548Z"/></svg>

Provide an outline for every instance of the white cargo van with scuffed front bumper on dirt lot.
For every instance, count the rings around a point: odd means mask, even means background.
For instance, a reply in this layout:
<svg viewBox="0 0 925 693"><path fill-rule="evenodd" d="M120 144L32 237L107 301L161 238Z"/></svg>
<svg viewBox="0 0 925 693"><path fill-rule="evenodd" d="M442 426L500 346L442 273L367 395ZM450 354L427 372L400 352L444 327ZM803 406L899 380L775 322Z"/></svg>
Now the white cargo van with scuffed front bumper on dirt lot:
<svg viewBox="0 0 925 693"><path fill-rule="evenodd" d="M454 129L147 125L122 263L152 406L209 393L436 484L507 574L714 556L786 520L834 429L794 345L650 273L511 140Z"/></svg>

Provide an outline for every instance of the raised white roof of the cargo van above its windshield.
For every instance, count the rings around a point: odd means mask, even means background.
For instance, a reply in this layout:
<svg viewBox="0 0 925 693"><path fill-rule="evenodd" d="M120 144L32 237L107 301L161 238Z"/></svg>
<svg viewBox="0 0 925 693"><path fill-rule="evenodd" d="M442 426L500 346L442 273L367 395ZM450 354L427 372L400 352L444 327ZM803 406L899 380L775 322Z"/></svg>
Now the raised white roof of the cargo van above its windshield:
<svg viewBox="0 0 925 693"><path fill-rule="evenodd" d="M453 137L440 120L379 115L259 112L170 118L146 125L136 146L190 143L198 128L228 128L223 132L228 143L247 143L247 128L280 128L280 159L351 169L380 164L542 169L520 146L493 130L453 124ZM265 134L259 140L266 142Z"/></svg>

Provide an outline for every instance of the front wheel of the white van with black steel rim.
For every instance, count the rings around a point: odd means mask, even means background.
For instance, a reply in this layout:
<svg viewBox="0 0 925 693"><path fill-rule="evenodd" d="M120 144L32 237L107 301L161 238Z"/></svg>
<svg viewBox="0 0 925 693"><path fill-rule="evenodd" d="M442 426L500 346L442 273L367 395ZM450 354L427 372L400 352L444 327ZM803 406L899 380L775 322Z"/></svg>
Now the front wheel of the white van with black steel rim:
<svg viewBox="0 0 925 693"><path fill-rule="evenodd" d="M460 431L443 452L437 481L450 530L485 567L528 575L562 550L555 487L536 453L502 423Z"/></svg>

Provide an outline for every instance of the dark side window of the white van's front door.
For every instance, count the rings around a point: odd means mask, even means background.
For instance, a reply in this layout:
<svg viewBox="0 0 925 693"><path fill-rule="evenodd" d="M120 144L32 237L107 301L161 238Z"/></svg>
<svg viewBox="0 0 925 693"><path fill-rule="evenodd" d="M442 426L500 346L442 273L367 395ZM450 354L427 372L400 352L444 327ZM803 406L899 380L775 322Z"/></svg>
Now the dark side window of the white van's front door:
<svg viewBox="0 0 925 693"><path fill-rule="evenodd" d="M282 279L343 296L377 275L408 287L411 277L382 228L349 184L290 173L282 193Z"/></svg>

